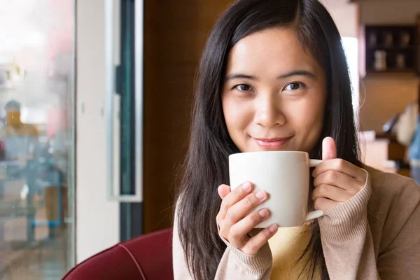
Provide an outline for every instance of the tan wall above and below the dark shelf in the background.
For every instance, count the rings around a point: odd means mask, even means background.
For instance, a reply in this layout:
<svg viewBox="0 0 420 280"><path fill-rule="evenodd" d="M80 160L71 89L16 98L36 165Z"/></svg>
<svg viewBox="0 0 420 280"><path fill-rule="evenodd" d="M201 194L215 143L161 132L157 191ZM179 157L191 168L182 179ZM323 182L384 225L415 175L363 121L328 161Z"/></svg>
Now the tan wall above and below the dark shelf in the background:
<svg viewBox="0 0 420 280"><path fill-rule="evenodd" d="M360 1L361 25L414 25L419 13L419 0ZM360 85L360 99L363 103L360 109L360 129L381 131L388 119L404 111L405 106L414 101L419 80L414 75L386 75L366 77L363 83Z"/></svg>

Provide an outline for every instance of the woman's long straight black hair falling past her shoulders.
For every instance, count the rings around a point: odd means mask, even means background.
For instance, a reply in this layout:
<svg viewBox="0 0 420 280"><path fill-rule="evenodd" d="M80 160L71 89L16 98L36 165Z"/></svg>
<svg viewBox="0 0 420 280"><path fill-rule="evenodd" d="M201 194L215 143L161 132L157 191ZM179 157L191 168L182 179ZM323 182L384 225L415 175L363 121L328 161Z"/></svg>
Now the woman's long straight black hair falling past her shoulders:
<svg viewBox="0 0 420 280"><path fill-rule="evenodd" d="M360 166L349 69L339 31L328 11L318 0L234 3L216 22L204 48L197 76L190 146L177 193L178 234L195 279L214 279L226 248L216 226L221 205L217 188L229 184L228 156L239 151L228 134L221 103L227 57L241 38L270 27L293 29L325 71L327 97L323 130L311 157L322 157L321 141L330 136L337 144L337 156ZM313 208L311 202L309 208ZM329 279L316 220L311 222L311 240L303 255L307 256L306 265L312 276L321 272L322 279Z"/></svg>

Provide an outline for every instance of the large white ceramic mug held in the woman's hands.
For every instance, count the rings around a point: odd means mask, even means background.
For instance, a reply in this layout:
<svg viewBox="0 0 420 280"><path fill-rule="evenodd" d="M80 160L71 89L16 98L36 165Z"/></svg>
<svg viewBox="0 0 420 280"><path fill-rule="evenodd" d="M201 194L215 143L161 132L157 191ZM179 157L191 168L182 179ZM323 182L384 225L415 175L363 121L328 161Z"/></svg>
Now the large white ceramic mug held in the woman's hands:
<svg viewBox="0 0 420 280"><path fill-rule="evenodd" d="M309 160L309 154L295 151L236 153L229 156L230 187L253 183L253 193L265 190L268 199L253 211L267 208L269 218L255 226L265 228L276 223L281 228L297 227L304 221L323 216L323 211L307 213L309 167L322 160ZM252 212L253 212L252 211Z"/></svg>

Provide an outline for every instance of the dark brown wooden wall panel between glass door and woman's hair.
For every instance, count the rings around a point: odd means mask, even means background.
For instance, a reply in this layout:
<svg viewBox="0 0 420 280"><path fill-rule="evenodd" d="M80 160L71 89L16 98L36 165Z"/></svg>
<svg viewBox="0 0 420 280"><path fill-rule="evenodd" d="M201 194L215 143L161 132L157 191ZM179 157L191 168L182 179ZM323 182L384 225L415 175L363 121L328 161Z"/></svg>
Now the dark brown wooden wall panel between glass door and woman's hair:
<svg viewBox="0 0 420 280"><path fill-rule="evenodd" d="M145 0L144 232L172 225L176 168L188 148L193 79L228 0Z"/></svg>

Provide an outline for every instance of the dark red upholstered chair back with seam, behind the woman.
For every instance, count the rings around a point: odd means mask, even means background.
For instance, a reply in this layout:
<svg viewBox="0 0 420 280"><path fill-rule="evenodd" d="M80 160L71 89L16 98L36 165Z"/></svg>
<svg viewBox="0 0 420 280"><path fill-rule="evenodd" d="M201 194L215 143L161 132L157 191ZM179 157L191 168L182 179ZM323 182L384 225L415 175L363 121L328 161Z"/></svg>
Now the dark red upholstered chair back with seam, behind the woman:
<svg viewBox="0 0 420 280"><path fill-rule="evenodd" d="M172 228L119 243L71 269L62 280L169 280Z"/></svg>

